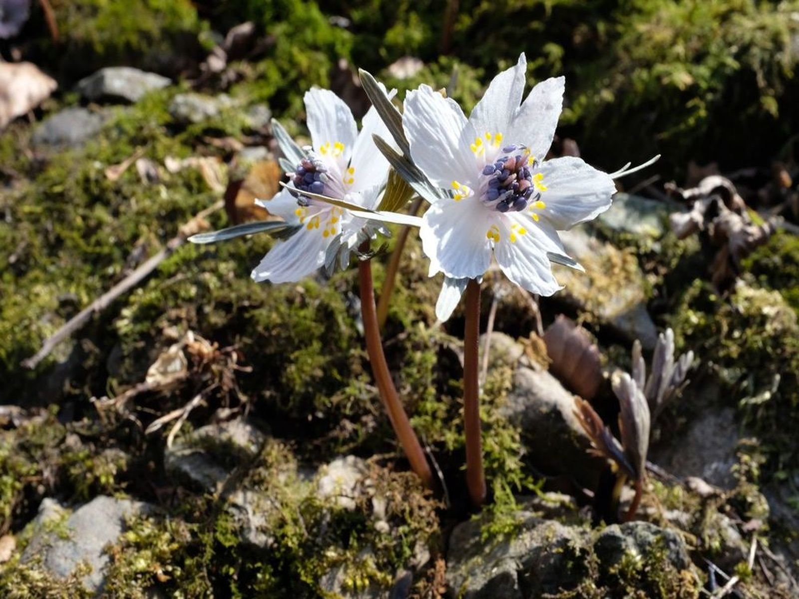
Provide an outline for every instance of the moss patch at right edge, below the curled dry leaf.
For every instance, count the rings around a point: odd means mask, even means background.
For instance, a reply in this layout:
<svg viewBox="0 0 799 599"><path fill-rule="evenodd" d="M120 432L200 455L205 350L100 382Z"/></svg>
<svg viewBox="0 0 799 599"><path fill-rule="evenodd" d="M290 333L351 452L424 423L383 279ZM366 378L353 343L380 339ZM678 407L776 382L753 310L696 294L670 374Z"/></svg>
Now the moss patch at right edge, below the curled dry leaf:
<svg viewBox="0 0 799 599"><path fill-rule="evenodd" d="M719 394L757 434L773 474L797 466L799 324L778 292L739 285L727 300L696 281L674 309L677 343L718 377Z"/></svg>

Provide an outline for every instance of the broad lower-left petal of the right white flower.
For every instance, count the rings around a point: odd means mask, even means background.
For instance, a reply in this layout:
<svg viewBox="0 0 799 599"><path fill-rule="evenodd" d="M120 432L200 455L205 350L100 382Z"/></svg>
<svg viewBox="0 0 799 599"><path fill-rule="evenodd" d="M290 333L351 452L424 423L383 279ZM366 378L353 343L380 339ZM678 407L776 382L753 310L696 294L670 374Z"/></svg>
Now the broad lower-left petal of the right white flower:
<svg viewBox="0 0 799 599"><path fill-rule="evenodd" d="M491 243L486 234L494 220L491 211L475 197L433 204L424 213L419 229L430 271L455 279L482 276L491 264Z"/></svg>

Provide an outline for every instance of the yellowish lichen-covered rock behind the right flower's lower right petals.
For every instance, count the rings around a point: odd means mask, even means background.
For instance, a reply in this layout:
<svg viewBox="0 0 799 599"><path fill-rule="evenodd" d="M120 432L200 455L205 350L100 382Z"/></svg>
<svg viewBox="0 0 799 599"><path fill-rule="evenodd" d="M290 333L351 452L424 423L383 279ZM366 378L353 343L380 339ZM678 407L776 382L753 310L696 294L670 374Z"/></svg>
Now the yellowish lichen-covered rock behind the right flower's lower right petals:
<svg viewBox="0 0 799 599"><path fill-rule="evenodd" d="M586 272L558 268L558 281L566 286L559 296L594 313L626 339L640 339L644 349L653 349L658 330L646 311L646 285L638 264L613 245L589 236L585 228L562 232L561 238L566 252Z"/></svg>

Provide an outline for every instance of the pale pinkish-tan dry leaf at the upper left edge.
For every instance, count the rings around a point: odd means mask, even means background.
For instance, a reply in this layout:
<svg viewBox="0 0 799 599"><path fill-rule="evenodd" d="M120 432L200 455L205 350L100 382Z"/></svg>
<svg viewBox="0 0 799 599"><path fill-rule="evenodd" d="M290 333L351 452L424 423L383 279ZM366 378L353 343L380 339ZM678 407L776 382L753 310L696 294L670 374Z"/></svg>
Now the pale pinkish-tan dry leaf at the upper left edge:
<svg viewBox="0 0 799 599"><path fill-rule="evenodd" d="M0 129L36 108L57 87L31 62L0 61Z"/></svg>

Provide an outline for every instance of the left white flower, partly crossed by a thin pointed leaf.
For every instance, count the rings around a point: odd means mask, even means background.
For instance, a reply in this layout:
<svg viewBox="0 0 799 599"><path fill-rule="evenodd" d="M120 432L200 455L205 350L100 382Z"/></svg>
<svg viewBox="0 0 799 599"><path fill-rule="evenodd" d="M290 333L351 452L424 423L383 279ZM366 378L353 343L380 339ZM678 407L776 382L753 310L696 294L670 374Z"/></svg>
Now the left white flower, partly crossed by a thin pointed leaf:
<svg viewBox="0 0 799 599"><path fill-rule="evenodd" d="M328 89L305 93L305 109L312 145L296 165L292 180L271 200L256 200L272 214L301 228L288 240L277 241L261 260L252 278L272 283L296 281L323 265L332 268L339 257L342 268L350 253L380 230L380 224L352 215L340 208L300 196L307 191L344 200L369 210L376 208L388 178L388 161L377 150L372 133L388 130L375 109L369 109L358 133L352 112Z"/></svg>

